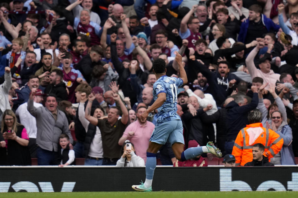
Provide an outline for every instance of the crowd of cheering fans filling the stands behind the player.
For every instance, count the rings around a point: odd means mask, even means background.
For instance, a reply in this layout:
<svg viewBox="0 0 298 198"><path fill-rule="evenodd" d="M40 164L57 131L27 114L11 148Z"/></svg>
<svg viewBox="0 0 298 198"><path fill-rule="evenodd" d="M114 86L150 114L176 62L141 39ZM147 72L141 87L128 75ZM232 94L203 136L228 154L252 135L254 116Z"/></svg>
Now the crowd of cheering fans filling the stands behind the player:
<svg viewBox="0 0 298 198"><path fill-rule="evenodd" d="M157 117L141 119L154 102L152 62L179 77L175 51L189 82L176 90L185 149L213 141L225 165L294 165L297 11L298 0L1 1L1 165L144 166ZM213 155L158 152L163 165L207 166L204 157Z"/></svg>

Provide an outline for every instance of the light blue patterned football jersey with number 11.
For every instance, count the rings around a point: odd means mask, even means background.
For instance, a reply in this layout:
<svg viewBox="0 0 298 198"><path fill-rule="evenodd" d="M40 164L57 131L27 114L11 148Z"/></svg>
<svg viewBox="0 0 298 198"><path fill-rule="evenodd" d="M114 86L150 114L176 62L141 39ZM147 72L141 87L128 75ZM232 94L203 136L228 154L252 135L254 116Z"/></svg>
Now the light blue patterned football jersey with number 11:
<svg viewBox="0 0 298 198"><path fill-rule="evenodd" d="M183 85L181 78L161 76L153 84L153 98L154 101L157 99L159 93L166 93L166 101L157 110L157 122L162 123L170 120L181 120L177 114L177 90L178 87Z"/></svg>

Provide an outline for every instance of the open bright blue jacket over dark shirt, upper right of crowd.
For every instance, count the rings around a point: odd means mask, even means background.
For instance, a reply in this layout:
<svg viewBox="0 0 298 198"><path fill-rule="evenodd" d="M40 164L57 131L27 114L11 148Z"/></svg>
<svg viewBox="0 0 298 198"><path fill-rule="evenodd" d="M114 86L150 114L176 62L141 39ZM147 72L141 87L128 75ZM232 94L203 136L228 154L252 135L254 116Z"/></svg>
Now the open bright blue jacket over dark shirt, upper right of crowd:
<svg viewBox="0 0 298 198"><path fill-rule="evenodd" d="M268 19L263 14L262 14L261 20L262 20L262 23L264 24L264 26L266 26L268 32L270 32L270 30L274 30L275 32L277 32L278 29L280 28L279 25L275 24L271 19ZM238 36L238 41L244 43L245 38L246 38L246 34L247 34L248 26L249 26L249 19L246 19L241 24L241 28L240 28L240 32L239 32L239 36Z"/></svg>

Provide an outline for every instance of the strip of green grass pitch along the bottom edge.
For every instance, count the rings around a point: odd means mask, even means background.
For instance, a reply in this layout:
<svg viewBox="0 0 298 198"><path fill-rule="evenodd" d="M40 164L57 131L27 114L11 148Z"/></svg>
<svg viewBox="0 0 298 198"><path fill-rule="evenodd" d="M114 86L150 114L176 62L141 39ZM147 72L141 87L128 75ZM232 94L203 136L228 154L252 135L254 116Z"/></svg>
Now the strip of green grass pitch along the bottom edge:
<svg viewBox="0 0 298 198"><path fill-rule="evenodd" d="M0 193L2 198L297 198L298 192L8 192Z"/></svg>

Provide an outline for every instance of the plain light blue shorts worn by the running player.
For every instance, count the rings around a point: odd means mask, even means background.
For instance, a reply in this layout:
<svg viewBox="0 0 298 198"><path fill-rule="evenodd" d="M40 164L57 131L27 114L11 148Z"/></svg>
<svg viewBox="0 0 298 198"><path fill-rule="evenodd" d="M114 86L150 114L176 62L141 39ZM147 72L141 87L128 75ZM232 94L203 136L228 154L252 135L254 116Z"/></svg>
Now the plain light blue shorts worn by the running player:
<svg viewBox="0 0 298 198"><path fill-rule="evenodd" d="M165 144L167 141L169 141L171 145L176 142L184 144L182 121L171 120L157 123L152 132L150 141L157 144Z"/></svg>

